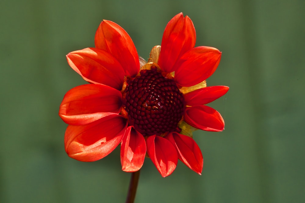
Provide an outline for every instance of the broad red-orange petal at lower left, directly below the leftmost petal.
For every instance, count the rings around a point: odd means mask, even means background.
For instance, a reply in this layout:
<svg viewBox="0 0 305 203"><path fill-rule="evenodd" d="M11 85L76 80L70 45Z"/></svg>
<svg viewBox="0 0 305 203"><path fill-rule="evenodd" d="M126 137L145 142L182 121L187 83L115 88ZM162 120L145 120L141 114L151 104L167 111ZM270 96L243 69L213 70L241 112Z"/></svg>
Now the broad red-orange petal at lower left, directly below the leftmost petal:
<svg viewBox="0 0 305 203"><path fill-rule="evenodd" d="M120 144L126 128L126 120L117 114L86 125L69 125L65 133L66 152L79 161L102 159Z"/></svg>

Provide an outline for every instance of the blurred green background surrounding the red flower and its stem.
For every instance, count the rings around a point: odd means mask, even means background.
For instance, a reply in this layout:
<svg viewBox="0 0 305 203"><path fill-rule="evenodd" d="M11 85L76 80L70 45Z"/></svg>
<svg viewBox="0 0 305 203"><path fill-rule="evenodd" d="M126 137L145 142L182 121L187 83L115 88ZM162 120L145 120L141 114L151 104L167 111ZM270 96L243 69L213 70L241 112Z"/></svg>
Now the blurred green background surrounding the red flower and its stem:
<svg viewBox="0 0 305 203"><path fill-rule="evenodd" d="M125 201L119 148L93 163L64 151L59 104L86 83L65 55L94 47L108 19L148 58L179 12L193 21L196 46L222 51L207 82L230 87L210 105L226 127L194 133L202 176L179 162L162 178L146 159L136 202L305 202L304 10L303 0L1 0L0 202Z"/></svg>

